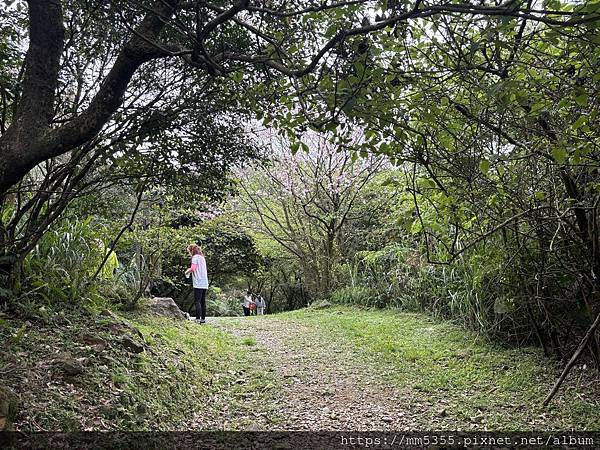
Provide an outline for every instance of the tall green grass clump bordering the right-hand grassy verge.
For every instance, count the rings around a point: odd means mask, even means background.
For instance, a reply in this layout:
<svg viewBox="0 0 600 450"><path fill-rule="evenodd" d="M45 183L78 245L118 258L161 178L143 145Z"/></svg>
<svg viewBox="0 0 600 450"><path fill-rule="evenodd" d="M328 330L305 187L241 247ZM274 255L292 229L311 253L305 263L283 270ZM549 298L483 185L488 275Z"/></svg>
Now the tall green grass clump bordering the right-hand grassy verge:
<svg viewBox="0 0 600 450"><path fill-rule="evenodd" d="M430 264L414 244L394 243L357 253L348 266L347 285L331 300L427 312L485 334L506 333L511 307L503 297L499 267L493 252Z"/></svg>

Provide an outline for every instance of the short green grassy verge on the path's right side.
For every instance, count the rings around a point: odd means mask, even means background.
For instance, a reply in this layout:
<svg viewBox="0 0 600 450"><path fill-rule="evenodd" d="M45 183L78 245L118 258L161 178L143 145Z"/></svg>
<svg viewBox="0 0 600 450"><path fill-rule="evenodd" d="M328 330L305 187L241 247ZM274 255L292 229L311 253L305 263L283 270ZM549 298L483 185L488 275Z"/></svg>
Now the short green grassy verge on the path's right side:
<svg viewBox="0 0 600 450"><path fill-rule="evenodd" d="M335 307L282 314L352 346L406 394L427 429L599 430L597 373L574 370L561 393L541 403L559 374L538 349L504 349L422 314Z"/></svg>

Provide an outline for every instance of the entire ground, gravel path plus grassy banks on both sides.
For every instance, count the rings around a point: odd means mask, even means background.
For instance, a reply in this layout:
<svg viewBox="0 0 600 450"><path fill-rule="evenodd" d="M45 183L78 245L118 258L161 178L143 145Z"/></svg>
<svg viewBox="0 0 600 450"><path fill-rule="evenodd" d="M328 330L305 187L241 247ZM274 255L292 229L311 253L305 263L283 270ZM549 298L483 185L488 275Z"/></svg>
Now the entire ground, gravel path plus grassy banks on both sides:
<svg viewBox="0 0 600 450"><path fill-rule="evenodd" d="M595 371L575 367L544 407L560 366L540 349L500 347L424 314L5 320L2 384L19 393L18 430L600 429Z"/></svg>

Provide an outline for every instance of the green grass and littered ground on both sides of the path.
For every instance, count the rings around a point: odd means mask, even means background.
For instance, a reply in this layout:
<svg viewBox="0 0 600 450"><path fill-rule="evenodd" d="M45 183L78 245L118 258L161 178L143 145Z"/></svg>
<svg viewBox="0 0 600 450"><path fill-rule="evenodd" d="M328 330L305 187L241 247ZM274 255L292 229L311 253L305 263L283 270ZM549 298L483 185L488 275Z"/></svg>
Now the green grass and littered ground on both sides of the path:
<svg viewBox="0 0 600 450"><path fill-rule="evenodd" d="M589 370L574 369L550 407L542 407L560 369L538 349L501 348L451 323L391 310L306 309L256 320L268 326L282 319L301 324L309 343L351 349L356 367L396 386L397 401L423 429L600 429L600 383ZM1 318L1 384L19 396L17 428L210 429L210 419L221 418L224 429L248 429L257 414L280 420L278 408L289 399L278 397L283 381L255 337L155 317L128 320L144 337L143 353L123 348L123 335L141 339L132 327L112 329L110 317ZM85 335L103 339L106 348L94 349ZM56 369L64 352L83 361L83 373ZM190 423L194 413L200 419Z"/></svg>

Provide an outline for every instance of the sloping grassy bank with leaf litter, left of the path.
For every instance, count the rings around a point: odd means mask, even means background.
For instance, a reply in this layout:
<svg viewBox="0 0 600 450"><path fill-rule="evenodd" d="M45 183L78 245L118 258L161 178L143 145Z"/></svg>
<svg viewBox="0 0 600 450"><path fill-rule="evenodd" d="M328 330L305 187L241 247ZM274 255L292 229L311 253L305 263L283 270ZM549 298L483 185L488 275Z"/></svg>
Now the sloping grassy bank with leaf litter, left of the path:
<svg viewBox="0 0 600 450"><path fill-rule="evenodd" d="M268 367L253 362L253 348L234 336L191 322L127 319L79 312L46 323L2 318L0 387L18 396L15 428L219 428L207 399L226 389L229 402L243 403L249 391L264 397L276 388Z"/></svg>

